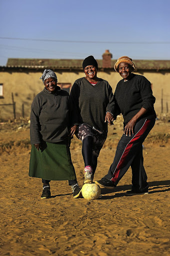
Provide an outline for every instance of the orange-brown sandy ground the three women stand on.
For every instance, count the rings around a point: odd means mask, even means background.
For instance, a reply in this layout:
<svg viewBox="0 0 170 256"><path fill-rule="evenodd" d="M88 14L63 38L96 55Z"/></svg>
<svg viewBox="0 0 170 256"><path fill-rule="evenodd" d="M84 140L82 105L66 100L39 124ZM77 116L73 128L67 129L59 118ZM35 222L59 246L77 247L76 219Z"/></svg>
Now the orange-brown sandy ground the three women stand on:
<svg viewBox="0 0 170 256"><path fill-rule="evenodd" d="M74 199L67 181L51 181L52 197L40 199L42 184L28 177L26 121L0 124L0 255L170 255L170 117L157 120L144 142L150 193L125 196L131 169L115 190ZM115 121L101 150L95 179L112 163L122 121ZM81 144L74 138L72 161L83 184Z"/></svg>

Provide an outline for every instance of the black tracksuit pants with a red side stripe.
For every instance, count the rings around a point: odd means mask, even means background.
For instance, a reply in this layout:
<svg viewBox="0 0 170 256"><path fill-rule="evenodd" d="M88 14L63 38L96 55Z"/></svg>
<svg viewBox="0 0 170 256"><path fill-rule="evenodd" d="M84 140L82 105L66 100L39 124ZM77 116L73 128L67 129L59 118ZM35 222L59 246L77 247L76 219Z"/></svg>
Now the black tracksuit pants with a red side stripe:
<svg viewBox="0 0 170 256"><path fill-rule="evenodd" d="M126 171L132 168L132 189L142 192L148 189L147 174L143 165L143 146L145 138L154 127L155 119L140 119L135 125L134 134L122 135L113 163L111 164L107 179L113 181L116 186Z"/></svg>

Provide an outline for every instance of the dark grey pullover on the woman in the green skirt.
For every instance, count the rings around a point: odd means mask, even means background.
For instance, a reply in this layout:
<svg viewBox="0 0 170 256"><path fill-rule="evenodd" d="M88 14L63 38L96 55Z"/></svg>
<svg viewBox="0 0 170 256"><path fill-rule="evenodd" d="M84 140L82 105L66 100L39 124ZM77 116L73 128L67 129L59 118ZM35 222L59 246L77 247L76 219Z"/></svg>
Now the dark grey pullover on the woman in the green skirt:
<svg viewBox="0 0 170 256"><path fill-rule="evenodd" d="M31 144L41 143L42 139L47 142L68 140L68 127L72 124L70 108L68 92L57 90L52 94L45 88L39 92L31 104Z"/></svg>

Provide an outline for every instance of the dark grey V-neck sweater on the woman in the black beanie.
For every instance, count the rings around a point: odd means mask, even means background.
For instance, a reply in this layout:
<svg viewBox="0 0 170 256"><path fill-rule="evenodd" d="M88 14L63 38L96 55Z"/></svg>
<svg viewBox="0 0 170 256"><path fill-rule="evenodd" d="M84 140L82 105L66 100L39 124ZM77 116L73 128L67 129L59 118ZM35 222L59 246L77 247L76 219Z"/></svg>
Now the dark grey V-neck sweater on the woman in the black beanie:
<svg viewBox="0 0 170 256"><path fill-rule="evenodd" d="M70 93L74 109L77 111L78 122L107 131L106 112L113 113L114 97L108 81L100 78L92 85L85 77L77 79Z"/></svg>

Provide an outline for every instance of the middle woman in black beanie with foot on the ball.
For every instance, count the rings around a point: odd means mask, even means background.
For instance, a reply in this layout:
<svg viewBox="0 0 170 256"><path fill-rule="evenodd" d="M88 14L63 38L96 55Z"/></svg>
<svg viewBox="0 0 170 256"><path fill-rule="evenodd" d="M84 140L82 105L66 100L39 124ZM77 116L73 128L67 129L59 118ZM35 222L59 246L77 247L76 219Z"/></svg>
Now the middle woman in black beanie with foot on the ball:
<svg viewBox="0 0 170 256"><path fill-rule="evenodd" d="M83 61L85 77L77 79L71 99L77 112L77 137L82 141L84 183L92 183L99 152L107 137L107 122L113 124L114 98L109 83L97 77L98 64L90 55Z"/></svg>

